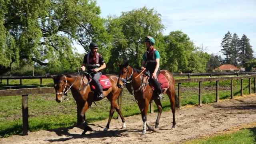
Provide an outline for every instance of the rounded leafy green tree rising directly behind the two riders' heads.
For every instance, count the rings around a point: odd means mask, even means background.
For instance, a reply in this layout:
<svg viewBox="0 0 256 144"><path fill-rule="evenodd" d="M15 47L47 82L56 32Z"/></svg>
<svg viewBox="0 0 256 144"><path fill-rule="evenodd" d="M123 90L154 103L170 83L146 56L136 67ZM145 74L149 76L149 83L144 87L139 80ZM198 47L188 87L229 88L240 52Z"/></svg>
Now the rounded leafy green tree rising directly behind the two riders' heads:
<svg viewBox="0 0 256 144"><path fill-rule="evenodd" d="M129 61L131 66L141 65L142 55L146 51L144 38L153 36L156 39L156 49L159 47L159 38L162 36L164 25L161 24L161 15L153 8L146 7L122 12L120 17L109 17L106 29L112 35L113 55L109 65L114 69L115 62ZM160 54L161 55L161 54Z"/></svg>

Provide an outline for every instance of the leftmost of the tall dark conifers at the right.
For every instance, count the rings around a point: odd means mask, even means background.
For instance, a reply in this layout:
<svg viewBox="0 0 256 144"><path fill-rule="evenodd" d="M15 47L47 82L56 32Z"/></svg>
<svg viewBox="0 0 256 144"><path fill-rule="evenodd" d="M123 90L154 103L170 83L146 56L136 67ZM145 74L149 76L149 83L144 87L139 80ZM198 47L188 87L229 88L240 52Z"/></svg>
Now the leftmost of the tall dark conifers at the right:
<svg viewBox="0 0 256 144"><path fill-rule="evenodd" d="M226 56L226 63L230 64L230 53L231 53L231 42L232 42L232 36L231 33L228 31L224 38L222 38L222 42L221 42L221 52L223 53L223 55Z"/></svg>

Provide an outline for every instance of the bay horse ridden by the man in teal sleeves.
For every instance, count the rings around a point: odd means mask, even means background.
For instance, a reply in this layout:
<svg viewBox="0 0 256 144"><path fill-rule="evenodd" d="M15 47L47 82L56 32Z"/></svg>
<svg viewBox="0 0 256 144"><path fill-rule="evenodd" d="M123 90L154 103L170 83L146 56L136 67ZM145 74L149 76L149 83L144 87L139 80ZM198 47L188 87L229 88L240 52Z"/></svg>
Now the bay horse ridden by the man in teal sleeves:
<svg viewBox="0 0 256 144"><path fill-rule="evenodd" d="M138 103L138 106L140 108L140 113L143 121L143 130L141 135L145 135L146 126L148 127L149 130L157 132L160 116L162 113L162 104L160 102L160 99L157 99L156 94L153 92L152 87L148 82L148 76L146 76L146 73L142 73L143 72L142 70L138 70L136 68L132 68L131 66L129 66L128 62L125 62L123 64L118 64L118 65L119 65L118 87L123 88L124 84L131 84L133 92L132 93L130 92L130 93L134 95ZM175 110L176 108L178 108L178 97L175 93L175 81L172 74L169 71L161 70L160 75L161 74L162 74L162 78L166 78L165 80L166 83L163 84L165 85L165 87L163 89L161 85L161 88L163 90L163 94L166 93L170 100L171 109L172 109L172 118L173 118L173 121L172 121L172 129L173 129L175 128L175 125L176 125ZM158 80L160 79L160 75L158 77ZM152 100L154 100L158 108L158 115L156 118L155 128L152 128L147 123L148 106L150 101Z"/></svg>

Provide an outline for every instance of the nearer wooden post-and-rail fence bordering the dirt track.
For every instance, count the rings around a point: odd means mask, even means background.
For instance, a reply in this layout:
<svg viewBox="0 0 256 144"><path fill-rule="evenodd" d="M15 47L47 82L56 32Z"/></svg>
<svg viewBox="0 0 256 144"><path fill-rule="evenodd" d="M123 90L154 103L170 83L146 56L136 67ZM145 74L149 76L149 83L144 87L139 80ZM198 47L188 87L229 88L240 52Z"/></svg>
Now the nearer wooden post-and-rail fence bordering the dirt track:
<svg viewBox="0 0 256 144"><path fill-rule="evenodd" d="M254 84L254 93L256 93L255 88L255 78L254 75L245 75L245 76L228 76L228 77L212 77L212 78L187 78L187 79L176 79L175 83L178 84L178 98L179 98L179 108L181 108L181 85L182 83L187 82L199 82L199 92L198 92L198 104L202 104L202 82L206 81L216 81L216 102L218 102L219 94L219 81L221 80L230 80L231 86L231 99L233 98L233 80L241 80L240 94L243 95L243 80L248 78L249 81L249 94L252 93L251 87L252 83ZM254 79L252 82L251 79ZM55 93L53 87L46 88L25 88L25 89L13 89L13 90L0 90L0 96L22 96L22 122L23 122L23 135L28 135L28 95L29 94L48 94ZM122 98L122 97L121 97ZM122 100L118 100L122 101ZM150 112L153 112L153 104L150 104Z"/></svg>

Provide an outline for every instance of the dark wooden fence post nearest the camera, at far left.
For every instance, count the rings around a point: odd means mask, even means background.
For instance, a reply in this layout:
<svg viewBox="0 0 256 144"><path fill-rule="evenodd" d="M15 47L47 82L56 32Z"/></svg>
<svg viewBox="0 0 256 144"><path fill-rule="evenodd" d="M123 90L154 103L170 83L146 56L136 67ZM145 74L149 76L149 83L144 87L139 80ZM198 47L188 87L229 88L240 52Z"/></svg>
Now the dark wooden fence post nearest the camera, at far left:
<svg viewBox="0 0 256 144"><path fill-rule="evenodd" d="M22 95L23 135L28 135L28 94Z"/></svg>

